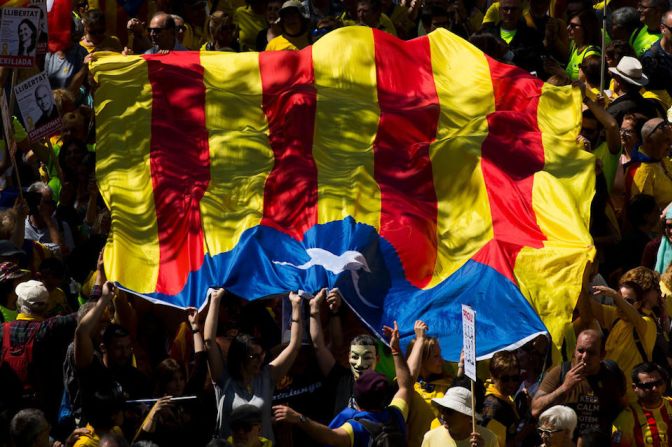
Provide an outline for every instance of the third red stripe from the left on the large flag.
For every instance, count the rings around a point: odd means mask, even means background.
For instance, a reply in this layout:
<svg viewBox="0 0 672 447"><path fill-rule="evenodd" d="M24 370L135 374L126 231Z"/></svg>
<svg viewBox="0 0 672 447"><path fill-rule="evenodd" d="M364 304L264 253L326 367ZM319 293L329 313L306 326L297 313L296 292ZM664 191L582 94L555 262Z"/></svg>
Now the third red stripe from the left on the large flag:
<svg viewBox="0 0 672 447"><path fill-rule="evenodd" d="M429 145L436 137L439 98L429 39L399 41L373 30L380 120L374 177L380 187L380 235L396 249L406 279L432 279L438 205Z"/></svg>

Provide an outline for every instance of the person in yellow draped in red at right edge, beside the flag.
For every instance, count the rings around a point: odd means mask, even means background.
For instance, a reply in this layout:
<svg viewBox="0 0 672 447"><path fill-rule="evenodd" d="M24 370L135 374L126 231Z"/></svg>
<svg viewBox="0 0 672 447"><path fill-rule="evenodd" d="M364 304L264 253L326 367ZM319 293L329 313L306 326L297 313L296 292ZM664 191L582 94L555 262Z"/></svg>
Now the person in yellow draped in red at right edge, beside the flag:
<svg viewBox="0 0 672 447"><path fill-rule="evenodd" d="M628 168L628 178L632 178L630 197L651 195L660 209L672 202L672 179L668 174L672 163L667 157L672 142L671 130L667 120L662 118L644 123L642 145L633 152L634 163Z"/></svg>

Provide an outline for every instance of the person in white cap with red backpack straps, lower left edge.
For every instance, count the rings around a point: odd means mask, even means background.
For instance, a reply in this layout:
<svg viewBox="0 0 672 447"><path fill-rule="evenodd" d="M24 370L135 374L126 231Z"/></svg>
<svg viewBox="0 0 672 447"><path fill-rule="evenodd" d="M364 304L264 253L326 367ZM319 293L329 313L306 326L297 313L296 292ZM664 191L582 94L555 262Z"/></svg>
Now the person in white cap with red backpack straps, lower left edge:
<svg viewBox="0 0 672 447"><path fill-rule="evenodd" d="M19 315L16 321L0 326L0 382L15 384L18 396L0 394L0 402L10 408L34 407L55 420L63 390L59 374L65 349L72 340L77 314L45 319L49 292L39 281L16 287Z"/></svg>

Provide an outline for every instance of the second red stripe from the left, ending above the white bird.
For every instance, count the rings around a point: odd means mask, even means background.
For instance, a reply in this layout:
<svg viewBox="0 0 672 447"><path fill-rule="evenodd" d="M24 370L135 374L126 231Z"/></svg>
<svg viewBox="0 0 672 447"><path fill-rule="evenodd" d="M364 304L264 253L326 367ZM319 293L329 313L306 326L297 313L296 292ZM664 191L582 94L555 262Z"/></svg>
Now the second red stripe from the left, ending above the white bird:
<svg viewBox="0 0 672 447"><path fill-rule="evenodd" d="M262 107L275 165L264 186L262 225L294 239L317 223L313 132L317 92L312 47L259 54Z"/></svg>

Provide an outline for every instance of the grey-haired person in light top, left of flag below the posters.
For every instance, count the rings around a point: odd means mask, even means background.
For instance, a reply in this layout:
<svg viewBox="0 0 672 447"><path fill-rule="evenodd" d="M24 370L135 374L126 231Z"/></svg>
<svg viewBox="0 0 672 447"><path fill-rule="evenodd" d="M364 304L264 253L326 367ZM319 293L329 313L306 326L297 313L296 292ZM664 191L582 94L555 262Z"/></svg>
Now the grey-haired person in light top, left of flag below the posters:
<svg viewBox="0 0 672 447"><path fill-rule="evenodd" d="M24 228L25 238L46 246L55 255L68 254L75 248L72 230L67 222L56 220L56 202L49 185L35 182L26 194L28 216Z"/></svg>

